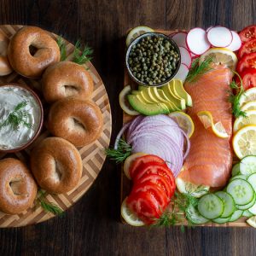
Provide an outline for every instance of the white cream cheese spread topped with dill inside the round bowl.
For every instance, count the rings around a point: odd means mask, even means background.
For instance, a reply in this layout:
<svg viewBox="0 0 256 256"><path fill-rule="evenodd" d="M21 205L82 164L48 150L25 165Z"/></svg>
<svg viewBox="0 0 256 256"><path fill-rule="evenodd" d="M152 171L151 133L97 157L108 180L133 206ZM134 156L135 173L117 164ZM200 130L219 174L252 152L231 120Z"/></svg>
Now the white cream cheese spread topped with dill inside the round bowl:
<svg viewBox="0 0 256 256"><path fill-rule="evenodd" d="M16 86L0 86L0 149L20 148L38 131L41 110L32 93Z"/></svg>

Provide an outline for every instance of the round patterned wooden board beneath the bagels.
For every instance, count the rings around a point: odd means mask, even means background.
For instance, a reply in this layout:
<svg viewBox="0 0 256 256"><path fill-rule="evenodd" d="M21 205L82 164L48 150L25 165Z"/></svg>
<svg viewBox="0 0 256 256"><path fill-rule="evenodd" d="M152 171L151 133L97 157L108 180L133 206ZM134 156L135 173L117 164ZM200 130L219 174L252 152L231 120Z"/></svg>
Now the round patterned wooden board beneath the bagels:
<svg viewBox="0 0 256 256"><path fill-rule="evenodd" d="M22 26L13 26L13 25L5 25L0 26L1 32L6 34L9 38L17 32ZM57 38L55 34L53 37ZM65 41L67 45L67 60L72 60L72 53L74 46L69 42ZM104 154L104 148L108 148L110 137L111 137L111 129L112 129L112 120L111 120L111 110L108 101L108 94L105 89L104 84L102 83L102 79L99 74L96 72L95 67L90 62L87 62L84 65L85 68L88 68L94 82L94 91L92 95L92 100L96 102L96 104L101 108L104 126L101 137L96 140L94 143L90 145L79 148L79 153L81 154L83 160L83 174L79 181L79 184L75 189L69 191L66 194L60 195L47 195L47 201L54 203L55 205L61 207L64 211L67 208L73 206L73 204L81 198L85 194L85 192L90 188L90 185L95 181L97 175L102 169L102 165L106 158ZM45 137L49 137L49 131L46 130L46 122L47 113L49 109L49 105L45 104L43 96L41 94L41 84L40 79L27 79L21 77L18 73L11 73L9 76L0 77L0 84L7 83L19 83L24 84L24 86L29 86L33 90L38 93L38 96L41 98L42 103L44 105L44 128L41 131L38 139L32 143L29 148L22 150L15 154L16 158L26 162L29 164L29 155L32 148L42 141ZM0 159L8 156L14 156L14 154L5 154L0 155ZM0 212L0 227L19 227L25 226L27 224L37 224L47 220L49 218L53 218L54 215L48 212L44 212L43 208L37 206L28 209L25 212L17 215L9 215L3 212Z"/></svg>

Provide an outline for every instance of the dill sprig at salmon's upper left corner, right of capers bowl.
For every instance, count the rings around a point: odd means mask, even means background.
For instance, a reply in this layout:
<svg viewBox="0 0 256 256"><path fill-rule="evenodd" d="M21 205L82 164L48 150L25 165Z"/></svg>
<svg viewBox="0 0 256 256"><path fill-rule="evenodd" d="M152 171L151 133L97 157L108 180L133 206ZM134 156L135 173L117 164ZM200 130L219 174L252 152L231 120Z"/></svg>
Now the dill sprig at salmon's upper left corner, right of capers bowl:
<svg viewBox="0 0 256 256"><path fill-rule="evenodd" d="M199 64L199 58L196 58L189 69L188 76L186 78L186 81L189 83L194 83L197 81L197 79L200 79L200 77L208 73L212 70L212 57L207 57L204 61Z"/></svg>

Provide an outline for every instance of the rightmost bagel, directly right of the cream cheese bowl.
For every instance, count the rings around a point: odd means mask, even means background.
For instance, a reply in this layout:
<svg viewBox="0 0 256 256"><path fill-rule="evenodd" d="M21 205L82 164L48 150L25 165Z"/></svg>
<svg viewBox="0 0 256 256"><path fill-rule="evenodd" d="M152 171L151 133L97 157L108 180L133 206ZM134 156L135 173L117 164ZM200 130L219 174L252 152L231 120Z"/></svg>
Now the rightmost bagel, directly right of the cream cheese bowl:
<svg viewBox="0 0 256 256"><path fill-rule="evenodd" d="M76 147L83 147L100 137L103 117L100 108L90 101L68 97L49 109L48 129Z"/></svg>

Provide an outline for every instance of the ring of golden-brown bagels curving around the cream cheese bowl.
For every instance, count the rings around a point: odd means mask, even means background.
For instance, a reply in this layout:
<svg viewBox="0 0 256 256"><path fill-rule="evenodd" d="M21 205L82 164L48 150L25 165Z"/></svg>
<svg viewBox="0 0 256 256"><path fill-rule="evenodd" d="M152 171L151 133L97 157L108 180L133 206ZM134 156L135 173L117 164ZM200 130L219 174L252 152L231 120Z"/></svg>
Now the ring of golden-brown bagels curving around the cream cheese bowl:
<svg viewBox="0 0 256 256"><path fill-rule="evenodd" d="M32 207L38 187L66 193L82 176L79 150L100 137L102 112L91 100L90 73L72 61L60 61L55 38L35 26L25 26L7 38L0 33L0 75L14 70L41 79L44 100L50 104L46 126L52 135L36 143L30 166L15 158L0 160L0 211L19 214Z"/></svg>

